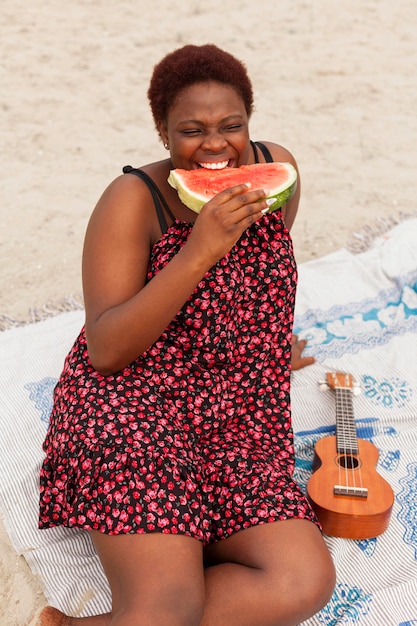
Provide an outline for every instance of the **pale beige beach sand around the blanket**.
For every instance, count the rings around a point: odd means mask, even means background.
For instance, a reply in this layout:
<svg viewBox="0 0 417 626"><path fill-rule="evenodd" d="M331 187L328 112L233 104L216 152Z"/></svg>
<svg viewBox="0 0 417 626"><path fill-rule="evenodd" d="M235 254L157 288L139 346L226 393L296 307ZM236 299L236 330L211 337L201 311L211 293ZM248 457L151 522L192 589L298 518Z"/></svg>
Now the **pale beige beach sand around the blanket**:
<svg viewBox="0 0 417 626"><path fill-rule="evenodd" d="M252 137L296 156L305 262L416 210L413 0L3 0L0 318L80 298L89 215L123 165L165 157L154 64L214 42L247 65ZM28 624L40 583L0 532L0 625Z"/></svg>

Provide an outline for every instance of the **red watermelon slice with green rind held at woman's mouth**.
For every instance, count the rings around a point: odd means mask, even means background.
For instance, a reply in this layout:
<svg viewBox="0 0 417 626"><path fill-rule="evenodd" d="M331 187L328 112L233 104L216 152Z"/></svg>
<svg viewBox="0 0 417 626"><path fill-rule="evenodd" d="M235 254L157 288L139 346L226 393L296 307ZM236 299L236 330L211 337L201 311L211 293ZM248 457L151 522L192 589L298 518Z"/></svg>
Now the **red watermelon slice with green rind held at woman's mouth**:
<svg viewBox="0 0 417 626"><path fill-rule="evenodd" d="M171 170L168 182L177 190L186 207L200 213L203 206L220 191L241 183L251 189L265 189L276 198L269 211L276 211L292 198L297 188L297 170L291 163L255 163L221 170Z"/></svg>

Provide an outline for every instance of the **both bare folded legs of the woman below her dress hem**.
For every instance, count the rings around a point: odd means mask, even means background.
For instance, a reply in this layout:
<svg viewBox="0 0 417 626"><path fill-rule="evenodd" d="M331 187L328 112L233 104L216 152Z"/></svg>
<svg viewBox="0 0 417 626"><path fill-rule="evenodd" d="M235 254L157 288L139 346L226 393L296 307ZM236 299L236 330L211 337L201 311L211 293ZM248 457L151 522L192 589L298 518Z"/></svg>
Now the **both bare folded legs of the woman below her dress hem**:
<svg viewBox="0 0 417 626"><path fill-rule="evenodd" d="M95 535L113 619L58 614L39 626L291 626L317 613L335 584L322 536L305 520L261 524L209 546L204 582L194 539Z"/></svg>

